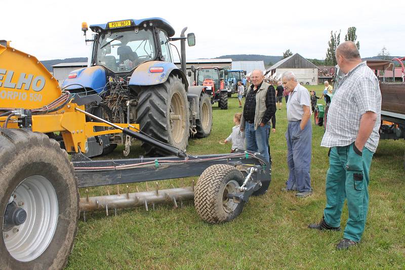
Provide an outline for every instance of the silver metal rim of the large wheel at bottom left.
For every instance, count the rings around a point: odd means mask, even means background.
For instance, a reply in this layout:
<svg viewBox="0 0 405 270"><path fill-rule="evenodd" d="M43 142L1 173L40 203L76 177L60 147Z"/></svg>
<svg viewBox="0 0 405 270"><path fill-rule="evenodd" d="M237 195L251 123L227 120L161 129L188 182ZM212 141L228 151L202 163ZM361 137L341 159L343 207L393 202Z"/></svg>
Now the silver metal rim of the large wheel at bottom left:
<svg viewBox="0 0 405 270"><path fill-rule="evenodd" d="M26 211L27 218L21 225L3 232L4 243L16 260L31 261L41 255L53 239L58 199L51 182L39 175L24 179L13 195L14 202Z"/></svg>

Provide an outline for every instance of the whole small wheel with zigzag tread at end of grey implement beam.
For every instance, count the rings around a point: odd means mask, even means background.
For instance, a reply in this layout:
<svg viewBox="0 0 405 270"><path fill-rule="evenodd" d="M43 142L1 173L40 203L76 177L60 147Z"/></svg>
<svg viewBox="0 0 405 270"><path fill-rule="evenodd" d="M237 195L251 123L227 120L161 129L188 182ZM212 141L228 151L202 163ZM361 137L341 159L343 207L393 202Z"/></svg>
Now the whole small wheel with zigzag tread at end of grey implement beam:
<svg viewBox="0 0 405 270"><path fill-rule="evenodd" d="M194 205L201 219L215 224L237 217L245 202L235 203L227 195L237 192L236 187L243 181L243 174L233 166L217 164L208 167L195 186Z"/></svg>

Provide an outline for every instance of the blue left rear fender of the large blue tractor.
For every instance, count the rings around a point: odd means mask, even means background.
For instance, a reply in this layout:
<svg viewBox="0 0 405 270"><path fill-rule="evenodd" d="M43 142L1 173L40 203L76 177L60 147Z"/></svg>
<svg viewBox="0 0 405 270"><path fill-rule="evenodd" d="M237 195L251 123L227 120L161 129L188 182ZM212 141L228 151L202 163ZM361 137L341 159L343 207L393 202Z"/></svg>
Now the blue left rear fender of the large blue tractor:
<svg viewBox="0 0 405 270"><path fill-rule="evenodd" d="M100 93L105 89L107 84L105 69L102 66L90 66L75 69L70 71L69 76L75 76L75 78L66 79L62 88L66 87L66 90L87 88Z"/></svg>

